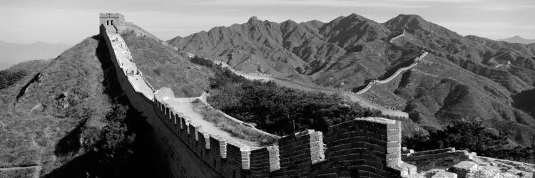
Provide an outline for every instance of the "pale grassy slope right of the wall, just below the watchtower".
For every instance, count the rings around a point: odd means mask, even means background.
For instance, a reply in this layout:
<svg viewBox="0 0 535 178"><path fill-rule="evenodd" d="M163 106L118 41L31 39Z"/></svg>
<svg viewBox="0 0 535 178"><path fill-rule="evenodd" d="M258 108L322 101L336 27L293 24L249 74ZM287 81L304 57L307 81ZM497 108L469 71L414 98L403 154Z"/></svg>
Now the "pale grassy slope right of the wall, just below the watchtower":
<svg viewBox="0 0 535 178"><path fill-rule="evenodd" d="M123 34L133 60L155 89L168 87L176 97L195 97L208 90L208 68L193 65L188 57L161 42L134 33Z"/></svg>

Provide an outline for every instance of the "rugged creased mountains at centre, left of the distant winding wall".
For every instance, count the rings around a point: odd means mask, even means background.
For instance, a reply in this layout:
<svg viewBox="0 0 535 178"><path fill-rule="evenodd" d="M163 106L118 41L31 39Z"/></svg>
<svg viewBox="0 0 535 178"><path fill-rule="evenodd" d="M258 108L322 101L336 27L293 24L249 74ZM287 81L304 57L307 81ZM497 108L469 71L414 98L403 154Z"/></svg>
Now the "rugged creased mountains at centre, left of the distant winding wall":
<svg viewBox="0 0 535 178"><path fill-rule="evenodd" d="M247 23L215 27L168 42L180 51L225 61L244 72L288 76L351 90L383 75L394 61L402 63L416 54L409 49L404 53L390 50L384 40L391 33L380 23L357 14L340 16L329 23L275 23L252 17ZM354 72L358 75L347 78Z"/></svg>

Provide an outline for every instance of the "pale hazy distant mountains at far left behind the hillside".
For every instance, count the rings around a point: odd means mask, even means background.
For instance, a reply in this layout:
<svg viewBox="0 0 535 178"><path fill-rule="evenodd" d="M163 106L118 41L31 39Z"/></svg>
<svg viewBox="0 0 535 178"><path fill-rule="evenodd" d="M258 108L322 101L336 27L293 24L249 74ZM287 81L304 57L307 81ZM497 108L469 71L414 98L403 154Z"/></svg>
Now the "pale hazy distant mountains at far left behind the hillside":
<svg viewBox="0 0 535 178"><path fill-rule="evenodd" d="M35 42L29 44L7 43L0 41L0 70L34 59L56 58L61 52L70 48L67 44L50 44Z"/></svg>

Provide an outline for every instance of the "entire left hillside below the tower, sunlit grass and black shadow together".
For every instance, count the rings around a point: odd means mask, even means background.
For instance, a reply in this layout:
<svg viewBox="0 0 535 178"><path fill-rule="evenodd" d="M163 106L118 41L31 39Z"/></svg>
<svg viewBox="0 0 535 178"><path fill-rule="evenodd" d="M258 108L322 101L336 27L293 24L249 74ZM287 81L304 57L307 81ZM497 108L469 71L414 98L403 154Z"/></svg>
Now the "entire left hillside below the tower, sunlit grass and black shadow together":
<svg viewBox="0 0 535 178"><path fill-rule="evenodd" d="M12 74L19 71L25 75ZM0 88L0 177L151 174L151 166L131 169L151 162L151 133L123 95L100 36L2 72L9 83Z"/></svg>

